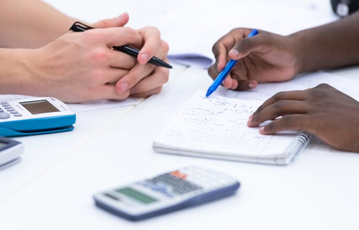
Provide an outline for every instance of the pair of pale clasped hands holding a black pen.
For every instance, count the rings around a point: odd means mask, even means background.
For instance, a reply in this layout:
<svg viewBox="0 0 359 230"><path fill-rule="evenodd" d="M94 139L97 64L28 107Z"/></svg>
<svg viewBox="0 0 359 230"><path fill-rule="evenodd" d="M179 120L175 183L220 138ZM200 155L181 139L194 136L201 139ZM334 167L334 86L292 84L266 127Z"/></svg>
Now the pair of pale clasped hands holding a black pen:
<svg viewBox="0 0 359 230"><path fill-rule="evenodd" d="M169 70L147 62L157 56L167 61L168 44L155 27L123 27L127 13L92 24L96 29L69 32L31 52L36 96L52 95L65 102L122 100L159 93ZM141 49L136 58L113 46Z"/></svg>

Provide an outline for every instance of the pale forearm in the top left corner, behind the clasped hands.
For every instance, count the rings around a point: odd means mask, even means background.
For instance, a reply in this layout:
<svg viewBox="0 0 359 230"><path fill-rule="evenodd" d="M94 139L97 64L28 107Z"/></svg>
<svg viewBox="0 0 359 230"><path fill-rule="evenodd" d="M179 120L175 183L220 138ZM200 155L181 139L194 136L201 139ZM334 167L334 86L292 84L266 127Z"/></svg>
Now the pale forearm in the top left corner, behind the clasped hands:
<svg viewBox="0 0 359 230"><path fill-rule="evenodd" d="M41 47L66 33L73 21L40 0L0 0L0 47Z"/></svg>

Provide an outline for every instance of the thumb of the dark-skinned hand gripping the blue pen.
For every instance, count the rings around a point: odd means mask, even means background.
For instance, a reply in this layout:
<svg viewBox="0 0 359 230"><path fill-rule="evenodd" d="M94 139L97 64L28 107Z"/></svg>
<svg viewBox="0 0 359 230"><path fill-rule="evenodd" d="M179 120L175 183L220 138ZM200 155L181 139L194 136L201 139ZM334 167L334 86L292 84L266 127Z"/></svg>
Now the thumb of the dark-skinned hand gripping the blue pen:
<svg viewBox="0 0 359 230"><path fill-rule="evenodd" d="M266 41L261 34L249 38L243 38L228 52L228 56L233 60L238 60L244 58L251 52L263 50L265 46Z"/></svg>

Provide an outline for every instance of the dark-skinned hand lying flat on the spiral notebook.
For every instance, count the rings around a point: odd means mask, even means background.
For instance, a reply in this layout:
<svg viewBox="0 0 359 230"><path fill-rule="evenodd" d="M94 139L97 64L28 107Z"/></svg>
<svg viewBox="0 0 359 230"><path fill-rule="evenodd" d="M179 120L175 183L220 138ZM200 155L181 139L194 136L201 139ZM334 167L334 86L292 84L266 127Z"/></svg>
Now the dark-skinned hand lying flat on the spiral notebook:
<svg viewBox="0 0 359 230"><path fill-rule="evenodd" d="M359 102L337 89L321 84L303 91L280 92L265 101L248 120L262 134L304 130L335 148L359 152Z"/></svg>

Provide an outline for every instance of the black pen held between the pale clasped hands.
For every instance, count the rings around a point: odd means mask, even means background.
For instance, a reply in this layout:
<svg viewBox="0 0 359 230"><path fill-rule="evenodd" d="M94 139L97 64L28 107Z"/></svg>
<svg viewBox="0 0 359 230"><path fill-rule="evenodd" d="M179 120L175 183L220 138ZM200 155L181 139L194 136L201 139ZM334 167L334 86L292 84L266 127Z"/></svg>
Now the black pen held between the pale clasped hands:
<svg viewBox="0 0 359 230"><path fill-rule="evenodd" d="M88 29L94 29L93 27L90 27L88 25L85 25L81 22L76 21L75 23L73 23L73 25L70 27L70 30L74 31L74 32L83 32L86 31ZM139 49L133 48L131 46L128 45L122 45L122 46L114 46L113 47L115 50L124 52L128 55L131 55L133 57L138 56L138 54L140 53ZM161 66L161 67L165 67L165 68L169 68L172 69L172 66L167 64L166 62L162 61L160 58L157 57L152 57L149 61L149 63L154 64L156 66Z"/></svg>

